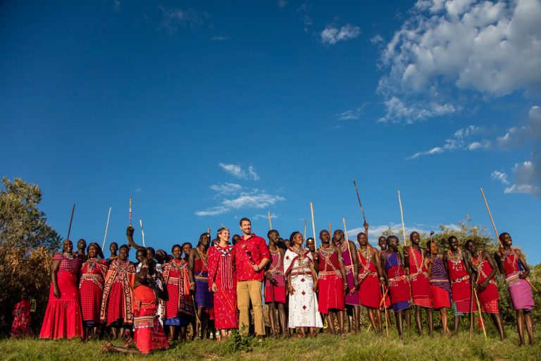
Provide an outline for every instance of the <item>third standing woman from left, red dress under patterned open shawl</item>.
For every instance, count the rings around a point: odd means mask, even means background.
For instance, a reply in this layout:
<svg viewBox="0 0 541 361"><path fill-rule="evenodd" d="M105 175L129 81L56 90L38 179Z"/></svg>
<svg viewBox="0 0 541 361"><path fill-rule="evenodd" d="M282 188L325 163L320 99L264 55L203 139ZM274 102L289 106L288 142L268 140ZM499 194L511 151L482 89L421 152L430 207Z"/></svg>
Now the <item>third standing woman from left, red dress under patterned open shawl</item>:
<svg viewBox="0 0 541 361"><path fill-rule="evenodd" d="M128 246L121 245L118 259L111 262L107 271L99 315L101 322L111 327L113 338L120 338L124 331L129 332L133 324L134 277L135 264L128 261Z"/></svg>

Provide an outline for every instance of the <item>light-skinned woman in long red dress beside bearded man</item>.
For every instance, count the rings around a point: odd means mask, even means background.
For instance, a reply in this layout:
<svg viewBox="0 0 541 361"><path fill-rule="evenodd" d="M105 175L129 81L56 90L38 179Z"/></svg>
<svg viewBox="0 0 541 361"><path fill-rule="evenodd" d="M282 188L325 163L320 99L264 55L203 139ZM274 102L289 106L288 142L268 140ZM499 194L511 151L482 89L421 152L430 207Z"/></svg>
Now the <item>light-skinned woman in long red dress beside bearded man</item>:
<svg viewBox="0 0 541 361"><path fill-rule="evenodd" d="M218 229L218 243L209 248L209 286L214 293L214 326L220 336L239 328L235 252L229 244L229 230Z"/></svg>

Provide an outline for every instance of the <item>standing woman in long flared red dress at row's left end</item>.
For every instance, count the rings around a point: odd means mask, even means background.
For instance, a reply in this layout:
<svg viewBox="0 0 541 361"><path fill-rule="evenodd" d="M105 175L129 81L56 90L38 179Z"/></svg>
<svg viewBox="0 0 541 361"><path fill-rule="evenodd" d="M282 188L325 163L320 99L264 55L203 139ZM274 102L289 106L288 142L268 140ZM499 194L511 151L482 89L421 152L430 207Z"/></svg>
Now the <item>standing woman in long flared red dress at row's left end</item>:
<svg viewBox="0 0 541 361"><path fill-rule="evenodd" d="M78 276L81 261L72 253L73 243L64 240L62 253L53 257L49 303L39 338L82 337Z"/></svg>

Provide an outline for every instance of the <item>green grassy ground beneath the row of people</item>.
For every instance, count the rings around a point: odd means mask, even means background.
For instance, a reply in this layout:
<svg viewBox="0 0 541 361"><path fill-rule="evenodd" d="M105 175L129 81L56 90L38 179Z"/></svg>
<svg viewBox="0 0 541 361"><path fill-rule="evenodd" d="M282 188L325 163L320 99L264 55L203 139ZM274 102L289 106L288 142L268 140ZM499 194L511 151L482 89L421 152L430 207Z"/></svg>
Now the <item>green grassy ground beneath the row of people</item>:
<svg viewBox="0 0 541 361"><path fill-rule="evenodd" d="M470 341L467 332L449 338L413 335L404 341L399 341L395 332L385 338L365 331L345 339L321 334L305 339L266 338L258 343L244 338L237 339L238 343L232 339L175 343L166 351L136 357L99 355L100 341L5 339L0 341L0 360L541 360L540 345L519 348L516 332L509 329L508 335L504 342L497 341L495 334L485 341L482 333L474 334ZM536 336L539 340L541 335L537 332Z"/></svg>

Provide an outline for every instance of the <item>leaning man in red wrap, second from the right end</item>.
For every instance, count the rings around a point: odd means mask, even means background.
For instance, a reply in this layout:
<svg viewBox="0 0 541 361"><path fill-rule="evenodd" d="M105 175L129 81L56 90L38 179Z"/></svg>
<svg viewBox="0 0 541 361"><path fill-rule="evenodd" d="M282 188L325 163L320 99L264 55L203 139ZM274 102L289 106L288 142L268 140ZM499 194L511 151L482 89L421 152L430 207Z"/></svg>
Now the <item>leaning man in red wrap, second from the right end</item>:
<svg viewBox="0 0 541 361"><path fill-rule="evenodd" d="M490 314L492 322L494 322L499 332L499 340L503 341L505 339L504 323L502 322L502 315L499 314L498 310L498 287L494 281L494 277L498 271L496 262L494 262L494 259L488 252L483 250L478 251L474 240L466 240L464 247L466 247L466 250L471 255L470 268L474 279L477 280L477 288L475 290L481 311Z"/></svg>

